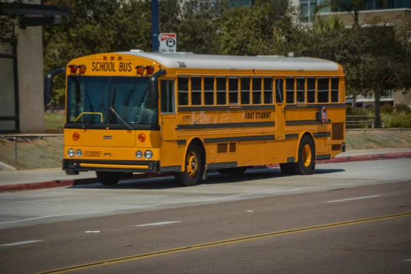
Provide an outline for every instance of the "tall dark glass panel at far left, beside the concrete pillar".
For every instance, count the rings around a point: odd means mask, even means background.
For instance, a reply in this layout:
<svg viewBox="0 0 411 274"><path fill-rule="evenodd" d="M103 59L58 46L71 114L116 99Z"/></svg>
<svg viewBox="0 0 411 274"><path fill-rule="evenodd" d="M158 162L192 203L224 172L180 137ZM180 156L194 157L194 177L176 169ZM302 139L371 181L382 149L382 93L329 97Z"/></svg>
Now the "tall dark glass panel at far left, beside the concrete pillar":
<svg viewBox="0 0 411 274"><path fill-rule="evenodd" d="M16 116L13 60L5 58L1 58L0 60L0 116Z"/></svg>

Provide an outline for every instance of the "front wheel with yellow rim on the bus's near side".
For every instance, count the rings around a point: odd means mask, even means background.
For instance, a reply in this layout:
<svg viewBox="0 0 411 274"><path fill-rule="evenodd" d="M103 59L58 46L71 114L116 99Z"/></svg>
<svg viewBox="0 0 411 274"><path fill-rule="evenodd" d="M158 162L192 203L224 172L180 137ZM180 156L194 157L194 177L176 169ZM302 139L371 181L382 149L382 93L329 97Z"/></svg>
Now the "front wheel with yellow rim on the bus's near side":
<svg viewBox="0 0 411 274"><path fill-rule="evenodd" d="M195 162L194 158L197 162ZM195 162L195 171L194 169L188 169L187 166L190 164L190 161L191 164L193 161ZM175 182L177 182L179 186L195 186L201 181L201 177L203 177L205 164L205 155L203 150L195 143L191 143L188 146L185 164L186 169L183 172L175 173Z"/></svg>

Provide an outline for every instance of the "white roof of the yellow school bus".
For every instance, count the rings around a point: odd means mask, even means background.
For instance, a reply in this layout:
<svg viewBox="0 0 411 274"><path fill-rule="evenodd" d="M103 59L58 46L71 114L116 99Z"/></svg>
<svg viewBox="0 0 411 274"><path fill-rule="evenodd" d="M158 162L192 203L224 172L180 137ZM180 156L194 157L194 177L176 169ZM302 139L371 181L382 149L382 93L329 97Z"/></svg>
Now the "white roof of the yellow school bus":
<svg viewBox="0 0 411 274"><path fill-rule="evenodd" d="M307 57L275 57L273 55L238 56L192 53L153 53L122 51L121 54L147 58L168 68L188 69L256 69L281 71L338 71L338 64L329 60Z"/></svg>

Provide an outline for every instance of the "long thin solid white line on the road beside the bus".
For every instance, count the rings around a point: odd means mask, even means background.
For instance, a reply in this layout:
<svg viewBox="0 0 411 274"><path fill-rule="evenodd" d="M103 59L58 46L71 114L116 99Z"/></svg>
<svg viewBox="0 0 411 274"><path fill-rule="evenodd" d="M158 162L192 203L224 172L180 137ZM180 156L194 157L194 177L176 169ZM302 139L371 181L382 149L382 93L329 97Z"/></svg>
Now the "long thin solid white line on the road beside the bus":
<svg viewBox="0 0 411 274"><path fill-rule="evenodd" d="M216 198L202 199L202 200L176 201L176 202L173 202L173 203L154 203L154 204L146 205L146 206L132 206L132 207L129 207L129 208L117 208L117 209L114 209L114 210L98 210L98 211L88 211L88 212L55 214L55 215L39 216L39 217L28 218L28 219L21 219L21 220L16 220L16 221L8 221L8 222L0 223L0 225L4 225L4 224L7 224L7 223L21 223L21 222L34 221L34 220L39 220L39 219L55 218L55 217L93 214L93 213L104 213L104 212L114 212L114 211L121 211L121 210L134 210L134 209L140 209L140 208L152 208L152 207L155 207L155 206L171 206L171 205L176 205L176 204L179 204L179 203L203 203L203 202L206 202L206 201L215 201L215 200L219 200L219 199L227 199L227 198L241 197L241 196L247 196L247 195L261 195L261 194L267 194L267 193L291 192L291 191L303 190L303 189L308 189L308 188L319 188L319 186L308 186L306 188L291 188L291 189L286 189L286 190L273 190L273 191L265 191L265 192L253 192L253 193L223 196L223 197L216 197Z"/></svg>

